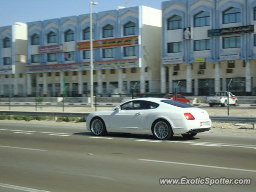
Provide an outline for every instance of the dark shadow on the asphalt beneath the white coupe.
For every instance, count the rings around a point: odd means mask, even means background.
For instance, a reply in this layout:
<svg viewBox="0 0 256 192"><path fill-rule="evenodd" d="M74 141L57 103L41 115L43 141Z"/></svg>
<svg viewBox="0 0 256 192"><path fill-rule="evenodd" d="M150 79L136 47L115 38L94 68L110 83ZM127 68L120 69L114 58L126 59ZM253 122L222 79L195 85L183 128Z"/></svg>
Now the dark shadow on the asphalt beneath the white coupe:
<svg viewBox="0 0 256 192"><path fill-rule="evenodd" d="M94 136L91 132L79 132L73 133L73 135L79 136ZM128 138L128 139L146 139L146 140L156 140L153 135L150 134L132 134L132 133L108 133L106 137L114 137L114 138ZM184 138L183 136L174 135L170 138L170 141L188 141L188 140L198 140L197 137L192 138Z"/></svg>

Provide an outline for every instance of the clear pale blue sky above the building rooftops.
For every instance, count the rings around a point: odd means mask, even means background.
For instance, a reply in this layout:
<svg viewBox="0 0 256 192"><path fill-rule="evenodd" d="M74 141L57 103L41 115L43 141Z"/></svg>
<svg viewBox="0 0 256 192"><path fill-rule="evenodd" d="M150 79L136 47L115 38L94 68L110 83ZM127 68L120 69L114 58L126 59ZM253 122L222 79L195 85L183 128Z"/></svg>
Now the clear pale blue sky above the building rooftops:
<svg viewBox="0 0 256 192"><path fill-rule="evenodd" d="M95 0L92 12L116 9L117 6L149 6L161 9L162 0ZM32 22L89 13L89 0L0 0L0 26L14 22ZM126 4L126 2L128 2Z"/></svg>

